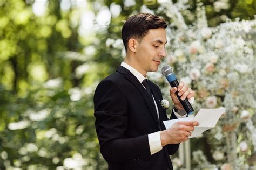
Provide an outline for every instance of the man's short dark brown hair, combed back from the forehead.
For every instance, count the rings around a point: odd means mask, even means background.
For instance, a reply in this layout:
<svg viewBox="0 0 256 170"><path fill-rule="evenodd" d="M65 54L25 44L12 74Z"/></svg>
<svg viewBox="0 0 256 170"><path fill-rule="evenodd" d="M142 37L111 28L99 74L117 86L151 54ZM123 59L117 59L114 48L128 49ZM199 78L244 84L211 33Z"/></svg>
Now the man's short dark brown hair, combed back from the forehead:
<svg viewBox="0 0 256 170"><path fill-rule="evenodd" d="M142 40L150 29L164 28L167 24L163 18L150 13L138 13L137 15L127 18L122 28L122 39L125 51L127 52L127 44L130 38Z"/></svg>

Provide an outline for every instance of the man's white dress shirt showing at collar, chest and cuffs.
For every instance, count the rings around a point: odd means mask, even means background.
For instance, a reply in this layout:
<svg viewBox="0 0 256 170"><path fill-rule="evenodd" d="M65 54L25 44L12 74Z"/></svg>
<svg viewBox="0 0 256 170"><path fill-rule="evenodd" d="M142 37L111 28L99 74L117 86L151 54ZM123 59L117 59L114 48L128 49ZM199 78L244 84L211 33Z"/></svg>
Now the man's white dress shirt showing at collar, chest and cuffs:
<svg viewBox="0 0 256 170"><path fill-rule="evenodd" d="M142 81L144 79L147 79L147 77L144 77L141 73L139 73L136 69L134 69L133 67L131 67L130 65L127 65L127 63L122 62L121 66L125 67L126 69L128 69L138 80L140 83L142 83ZM143 86L143 85L142 85ZM144 87L144 86L143 86ZM145 88L145 87L144 87ZM152 95L153 100L154 100L154 96ZM156 105L156 110L157 110L157 115L158 115L158 120L159 120L159 111L157 108L157 103L156 100L154 100L154 105ZM180 116L177 112L174 111L174 114L176 115L177 118L183 118L186 117L187 114ZM157 153L159 151L162 150L162 145L161 145L161 139L160 139L160 131L158 132L154 132L154 133L150 133L148 135L149 137L149 146L150 146L150 153L151 155L154 153Z"/></svg>

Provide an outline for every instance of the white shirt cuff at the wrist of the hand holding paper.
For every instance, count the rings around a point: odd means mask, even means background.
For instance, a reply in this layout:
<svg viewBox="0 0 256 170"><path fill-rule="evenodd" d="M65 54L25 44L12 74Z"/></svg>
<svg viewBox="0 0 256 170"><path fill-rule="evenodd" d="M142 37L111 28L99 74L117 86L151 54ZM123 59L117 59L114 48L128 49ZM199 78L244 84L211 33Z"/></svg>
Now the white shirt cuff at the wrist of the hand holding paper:
<svg viewBox="0 0 256 170"><path fill-rule="evenodd" d="M160 132L154 132L149 134L149 146L151 155L162 150Z"/></svg>

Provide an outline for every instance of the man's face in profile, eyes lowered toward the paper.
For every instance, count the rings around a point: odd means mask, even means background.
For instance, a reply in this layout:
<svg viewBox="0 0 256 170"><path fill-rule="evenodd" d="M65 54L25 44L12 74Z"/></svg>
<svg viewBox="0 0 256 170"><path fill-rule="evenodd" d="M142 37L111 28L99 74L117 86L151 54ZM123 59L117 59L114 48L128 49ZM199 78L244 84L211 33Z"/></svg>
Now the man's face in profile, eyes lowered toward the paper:
<svg viewBox="0 0 256 170"><path fill-rule="evenodd" d="M136 61L140 72L156 72L161 59L166 56L165 44L167 43L165 29L151 29L140 41L136 48Z"/></svg>

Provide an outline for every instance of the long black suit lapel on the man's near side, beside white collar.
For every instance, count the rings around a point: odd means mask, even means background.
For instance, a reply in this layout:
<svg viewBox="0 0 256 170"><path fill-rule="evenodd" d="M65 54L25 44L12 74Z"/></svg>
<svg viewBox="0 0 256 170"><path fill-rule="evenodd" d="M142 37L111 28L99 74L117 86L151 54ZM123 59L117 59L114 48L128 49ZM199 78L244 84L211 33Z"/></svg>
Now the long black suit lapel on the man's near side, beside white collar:
<svg viewBox="0 0 256 170"><path fill-rule="evenodd" d="M146 104L147 104L147 108L149 108L150 110L150 114L154 119L154 123L156 124L157 129L159 130L159 122L158 122L158 117L157 117L157 111L156 109L154 109L153 105L154 103L152 103L149 94L147 94L146 89L142 86L142 83L140 83L138 81L138 79L126 68L119 66L117 69L118 72L125 74L126 79L128 79L140 92L140 94L143 96ZM156 101L157 102L157 101Z"/></svg>

